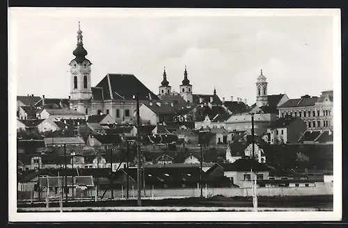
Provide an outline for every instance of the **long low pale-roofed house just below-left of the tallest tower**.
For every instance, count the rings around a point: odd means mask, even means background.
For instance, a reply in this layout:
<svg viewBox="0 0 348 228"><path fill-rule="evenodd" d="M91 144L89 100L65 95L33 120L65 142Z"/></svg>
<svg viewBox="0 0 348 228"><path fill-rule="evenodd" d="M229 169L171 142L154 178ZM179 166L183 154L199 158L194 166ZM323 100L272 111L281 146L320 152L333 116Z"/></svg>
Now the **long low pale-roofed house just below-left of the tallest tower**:
<svg viewBox="0 0 348 228"><path fill-rule="evenodd" d="M86 118L84 113L79 113L69 108L44 108L36 114L38 119L61 120L61 119L84 119Z"/></svg>

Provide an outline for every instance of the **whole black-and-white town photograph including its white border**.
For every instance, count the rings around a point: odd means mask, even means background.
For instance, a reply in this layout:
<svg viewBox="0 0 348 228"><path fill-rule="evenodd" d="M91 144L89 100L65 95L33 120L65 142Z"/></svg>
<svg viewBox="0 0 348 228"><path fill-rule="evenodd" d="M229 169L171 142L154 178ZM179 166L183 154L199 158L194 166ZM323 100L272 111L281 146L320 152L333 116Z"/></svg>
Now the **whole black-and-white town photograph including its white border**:
<svg viewBox="0 0 348 228"><path fill-rule="evenodd" d="M9 8L8 34L10 222L342 218L339 9Z"/></svg>

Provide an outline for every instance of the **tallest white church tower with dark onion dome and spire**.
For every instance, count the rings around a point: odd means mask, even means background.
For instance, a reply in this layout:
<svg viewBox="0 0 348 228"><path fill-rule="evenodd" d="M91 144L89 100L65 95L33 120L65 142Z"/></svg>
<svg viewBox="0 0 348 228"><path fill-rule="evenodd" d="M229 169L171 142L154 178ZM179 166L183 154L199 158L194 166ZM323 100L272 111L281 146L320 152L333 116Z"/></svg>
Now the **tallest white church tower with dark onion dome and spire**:
<svg viewBox="0 0 348 228"><path fill-rule="evenodd" d="M77 47L72 52L75 56L70 61L70 106L73 109L86 115L90 114L90 99L92 98L92 88L90 86L90 60L86 58L87 51L84 49L82 31L77 31Z"/></svg>

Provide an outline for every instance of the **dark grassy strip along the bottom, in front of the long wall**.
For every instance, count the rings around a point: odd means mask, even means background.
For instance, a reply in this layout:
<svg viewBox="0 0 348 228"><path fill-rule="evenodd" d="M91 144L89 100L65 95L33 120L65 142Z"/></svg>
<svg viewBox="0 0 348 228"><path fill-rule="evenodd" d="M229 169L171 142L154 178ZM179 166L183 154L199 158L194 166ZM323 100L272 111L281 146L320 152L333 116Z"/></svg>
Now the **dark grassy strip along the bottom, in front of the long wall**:
<svg viewBox="0 0 348 228"><path fill-rule="evenodd" d="M58 207L58 202L51 202L50 208ZM106 200L89 202L63 202L63 207L127 207L138 206L136 199ZM142 206L170 206L170 207L252 207L251 197L223 197L215 196L209 198L189 197L183 199L143 199ZM18 204L18 212L21 208L46 207L45 203L40 204ZM333 209L333 195L311 195L311 196L287 196L287 197L258 197L260 208L312 208L312 209Z"/></svg>

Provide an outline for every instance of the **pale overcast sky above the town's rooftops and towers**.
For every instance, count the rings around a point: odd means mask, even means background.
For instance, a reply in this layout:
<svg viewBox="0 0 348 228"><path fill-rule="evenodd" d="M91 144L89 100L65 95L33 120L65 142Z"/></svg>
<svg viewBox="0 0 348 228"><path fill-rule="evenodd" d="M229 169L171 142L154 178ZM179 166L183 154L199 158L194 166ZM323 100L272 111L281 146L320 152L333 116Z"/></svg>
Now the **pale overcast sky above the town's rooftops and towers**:
<svg viewBox="0 0 348 228"><path fill-rule="evenodd" d="M10 61L17 95L70 95L68 63L74 58L79 21L86 58L93 63L92 86L107 73L127 73L157 94L166 67L169 85L178 91L187 65L193 93L212 94L215 86L221 99L232 95L248 104L255 102L260 69L269 95L286 92L297 98L333 89L332 17L102 17L58 9L12 13Z"/></svg>

